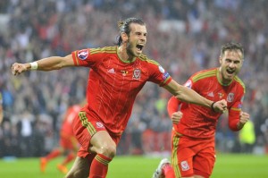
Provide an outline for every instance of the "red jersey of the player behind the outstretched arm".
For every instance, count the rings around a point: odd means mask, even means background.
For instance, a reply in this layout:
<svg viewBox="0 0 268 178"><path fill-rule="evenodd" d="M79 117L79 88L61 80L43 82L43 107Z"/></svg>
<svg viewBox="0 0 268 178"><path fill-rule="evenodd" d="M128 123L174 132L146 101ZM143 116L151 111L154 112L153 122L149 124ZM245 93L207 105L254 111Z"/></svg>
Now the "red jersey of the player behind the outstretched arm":
<svg viewBox="0 0 268 178"><path fill-rule="evenodd" d="M201 96L212 101L225 99L229 111L230 129L237 131L239 112L246 91L245 85L237 76L229 85L223 85L219 81L218 70L214 68L197 72L188 79L185 86L196 90ZM178 111L179 106L183 116L180 123L173 125L175 131L193 138L214 137L220 113L215 113L211 108L204 106L179 102L178 99L172 97L168 105L170 116L173 112Z"/></svg>

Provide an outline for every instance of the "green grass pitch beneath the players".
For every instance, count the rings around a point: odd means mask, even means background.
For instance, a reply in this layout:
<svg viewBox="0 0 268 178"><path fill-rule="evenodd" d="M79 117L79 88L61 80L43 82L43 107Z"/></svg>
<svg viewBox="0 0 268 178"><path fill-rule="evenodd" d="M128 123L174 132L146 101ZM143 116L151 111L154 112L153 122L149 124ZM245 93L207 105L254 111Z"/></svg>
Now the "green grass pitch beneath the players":
<svg viewBox="0 0 268 178"><path fill-rule="evenodd" d="M63 178L55 165L47 165L46 173L39 172L38 158L0 159L1 178ZM107 178L150 178L161 157L115 157L110 163ZM70 165L71 166L71 165ZM218 154L211 178L268 178L268 156Z"/></svg>

